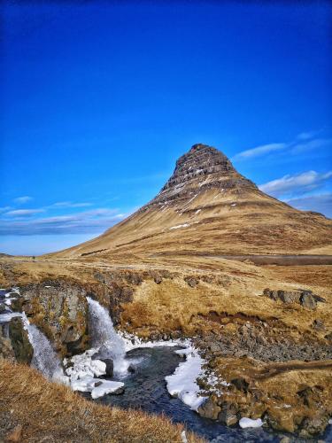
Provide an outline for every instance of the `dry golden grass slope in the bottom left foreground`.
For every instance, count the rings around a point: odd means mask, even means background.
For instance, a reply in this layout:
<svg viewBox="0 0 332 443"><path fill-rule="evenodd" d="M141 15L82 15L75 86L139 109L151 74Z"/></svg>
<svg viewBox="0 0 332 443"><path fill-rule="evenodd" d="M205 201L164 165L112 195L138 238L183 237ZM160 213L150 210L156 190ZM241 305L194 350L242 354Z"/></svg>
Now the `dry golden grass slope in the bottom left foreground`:
<svg viewBox="0 0 332 443"><path fill-rule="evenodd" d="M63 385L45 380L35 369L0 359L0 424L8 434L22 426L22 441L181 442L180 424L142 411L109 408L84 400ZM5 440L0 426L0 441ZM187 432L191 443L203 443Z"/></svg>

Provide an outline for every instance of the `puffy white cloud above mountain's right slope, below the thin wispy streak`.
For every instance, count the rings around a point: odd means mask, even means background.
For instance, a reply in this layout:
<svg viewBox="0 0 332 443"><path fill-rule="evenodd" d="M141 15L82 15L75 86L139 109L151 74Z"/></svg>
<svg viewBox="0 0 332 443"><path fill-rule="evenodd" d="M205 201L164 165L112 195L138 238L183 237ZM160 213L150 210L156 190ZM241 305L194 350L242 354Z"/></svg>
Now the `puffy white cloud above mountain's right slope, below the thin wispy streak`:
<svg viewBox="0 0 332 443"><path fill-rule="evenodd" d="M320 174L316 171L307 171L297 175L284 175L282 178L278 178L272 182L261 184L259 189L274 197L280 197L294 192L297 194L304 193L320 187L320 185L330 177L332 177L332 171L325 174Z"/></svg>

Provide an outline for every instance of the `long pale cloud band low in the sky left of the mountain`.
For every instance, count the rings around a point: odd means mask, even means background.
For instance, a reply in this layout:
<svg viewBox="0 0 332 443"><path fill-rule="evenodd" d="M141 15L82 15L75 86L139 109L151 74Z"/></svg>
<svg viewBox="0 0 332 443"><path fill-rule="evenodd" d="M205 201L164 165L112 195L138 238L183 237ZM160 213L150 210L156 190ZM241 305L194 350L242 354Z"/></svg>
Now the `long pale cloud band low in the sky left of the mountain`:
<svg viewBox="0 0 332 443"><path fill-rule="evenodd" d="M14 211L13 211L14 212ZM58 235L100 233L126 217L117 209L97 208L76 214L28 220L0 221L0 235Z"/></svg>

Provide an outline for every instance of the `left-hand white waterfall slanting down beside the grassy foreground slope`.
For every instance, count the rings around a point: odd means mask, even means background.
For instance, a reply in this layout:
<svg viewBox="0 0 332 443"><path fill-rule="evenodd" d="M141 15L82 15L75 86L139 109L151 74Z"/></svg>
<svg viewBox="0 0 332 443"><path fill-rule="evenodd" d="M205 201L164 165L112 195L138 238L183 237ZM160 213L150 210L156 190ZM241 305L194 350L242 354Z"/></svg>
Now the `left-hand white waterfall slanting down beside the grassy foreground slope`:
<svg viewBox="0 0 332 443"><path fill-rule="evenodd" d="M34 356L31 366L38 369L42 374L53 381L66 383L66 376L61 367L58 354L52 348L50 341L42 334L35 324L29 323L27 315L22 314L22 320L31 346L34 348Z"/></svg>

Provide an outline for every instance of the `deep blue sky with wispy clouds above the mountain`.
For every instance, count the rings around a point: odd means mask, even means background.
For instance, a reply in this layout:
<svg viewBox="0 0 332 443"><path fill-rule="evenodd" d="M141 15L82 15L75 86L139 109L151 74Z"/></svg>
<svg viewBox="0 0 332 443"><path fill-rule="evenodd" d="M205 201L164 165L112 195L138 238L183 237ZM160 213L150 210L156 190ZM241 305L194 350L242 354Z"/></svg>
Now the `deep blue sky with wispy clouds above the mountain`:
<svg viewBox="0 0 332 443"><path fill-rule="evenodd" d="M1 252L95 237L158 193L195 143L332 216L328 3L0 7Z"/></svg>

